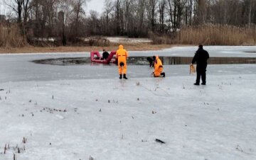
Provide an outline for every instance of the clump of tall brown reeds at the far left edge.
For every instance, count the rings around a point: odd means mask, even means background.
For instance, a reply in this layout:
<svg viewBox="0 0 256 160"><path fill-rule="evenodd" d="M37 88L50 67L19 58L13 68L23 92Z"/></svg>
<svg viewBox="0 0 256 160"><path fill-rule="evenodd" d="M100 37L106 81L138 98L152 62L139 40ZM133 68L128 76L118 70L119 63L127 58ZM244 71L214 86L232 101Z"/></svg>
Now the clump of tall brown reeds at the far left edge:
<svg viewBox="0 0 256 160"><path fill-rule="evenodd" d="M24 47L26 40L18 33L18 26L9 27L0 25L0 47Z"/></svg>

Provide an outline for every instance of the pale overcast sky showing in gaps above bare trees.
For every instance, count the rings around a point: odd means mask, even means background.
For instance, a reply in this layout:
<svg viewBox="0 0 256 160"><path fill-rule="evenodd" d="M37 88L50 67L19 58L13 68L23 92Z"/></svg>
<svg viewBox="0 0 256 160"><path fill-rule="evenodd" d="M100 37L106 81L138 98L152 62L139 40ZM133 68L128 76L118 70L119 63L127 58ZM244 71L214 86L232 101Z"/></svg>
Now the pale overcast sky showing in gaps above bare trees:
<svg viewBox="0 0 256 160"><path fill-rule="evenodd" d="M4 0L0 0L0 14L6 14L10 11L10 9L6 6L4 6L3 3ZM9 1L14 1L14 0L9 0ZM104 5L104 0L90 0L87 2L87 6L85 8L86 13L89 13L90 10L95 10L99 13L102 13Z"/></svg>

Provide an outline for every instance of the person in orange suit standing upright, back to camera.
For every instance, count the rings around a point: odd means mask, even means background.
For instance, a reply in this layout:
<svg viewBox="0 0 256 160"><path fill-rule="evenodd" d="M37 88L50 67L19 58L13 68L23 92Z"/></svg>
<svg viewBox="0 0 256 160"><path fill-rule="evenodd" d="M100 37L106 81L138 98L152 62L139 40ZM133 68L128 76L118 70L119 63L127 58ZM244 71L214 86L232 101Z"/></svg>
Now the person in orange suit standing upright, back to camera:
<svg viewBox="0 0 256 160"><path fill-rule="evenodd" d="M127 57L128 52L124 50L124 46L119 45L119 50L117 50L116 58L118 64L118 71L119 71L119 79L122 79L122 74L124 74L124 79L127 79Z"/></svg>

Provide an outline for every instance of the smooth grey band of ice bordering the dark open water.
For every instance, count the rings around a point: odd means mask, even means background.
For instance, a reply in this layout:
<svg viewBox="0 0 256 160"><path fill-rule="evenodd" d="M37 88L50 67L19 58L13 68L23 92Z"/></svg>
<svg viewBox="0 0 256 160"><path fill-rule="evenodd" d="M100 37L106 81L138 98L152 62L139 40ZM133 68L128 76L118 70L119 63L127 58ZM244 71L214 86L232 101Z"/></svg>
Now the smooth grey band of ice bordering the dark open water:
<svg viewBox="0 0 256 160"><path fill-rule="evenodd" d="M161 51L129 52L129 56L171 56L193 57L197 47L173 47ZM208 46L210 57L256 57L256 46L252 47L227 47ZM49 54L21 54L0 55L0 83L8 81L53 81L65 79L109 79L118 78L117 67L114 65L86 64L72 66L53 66L35 64L31 61L38 59L57 59L69 57L90 57L87 52L82 53L49 53ZM129 64L128 64L129 65ZM166 76L188 75L188 65L164 65ZM148 66L130 65L127 76L149 77L152 72ZM243 74L255 74L256 65L208 65L208 74L223 75L242 72Z"/></svg>

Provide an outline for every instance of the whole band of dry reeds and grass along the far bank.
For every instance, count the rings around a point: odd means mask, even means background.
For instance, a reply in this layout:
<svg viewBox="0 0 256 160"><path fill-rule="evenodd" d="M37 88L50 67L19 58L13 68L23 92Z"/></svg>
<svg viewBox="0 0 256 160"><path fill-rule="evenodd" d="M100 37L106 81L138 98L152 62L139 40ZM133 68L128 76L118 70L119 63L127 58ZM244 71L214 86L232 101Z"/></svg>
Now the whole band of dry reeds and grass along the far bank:
<svg viewBox="0 0 256 160"><path fill-rule="evenodd" d="M235 27L230 25L201 25L187 26L177 33L157 35L149 33L152 44L149 42L126 42L124 48L131 50L161 50L172 45L256 45L256 26ZM0 53L36 53L36 52L90 52L92 50L117 50L118 43L103 40L95 41L95 46L85 47L33 47L28 45L18 33L18 27L11 25L6 28L0 25ZM165 45L163 45L165 44ZM86 44L85 44L86 45ZM94 44L92 44L94 45Z"/></svg>

